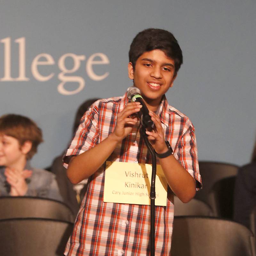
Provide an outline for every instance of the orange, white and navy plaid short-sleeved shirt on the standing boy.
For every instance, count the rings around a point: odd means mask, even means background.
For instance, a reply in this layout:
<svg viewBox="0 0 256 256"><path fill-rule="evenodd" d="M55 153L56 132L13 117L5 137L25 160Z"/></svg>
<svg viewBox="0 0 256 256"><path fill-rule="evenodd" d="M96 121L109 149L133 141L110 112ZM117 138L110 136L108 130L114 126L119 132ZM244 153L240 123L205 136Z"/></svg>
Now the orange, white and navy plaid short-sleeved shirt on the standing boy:
<svg viewBox="0 0 256 256"><path fill-rule="evenodd" d="M96 101L81 119L66 156L76 156L94 147L114 131L116 116L128 103L126 94ZM168 105L165 96L158 108L165 140L173 155L194 177L197 189L198 169L194 127L188 117ZM151 163L148 149L140 138L139 122L120 142L108 161ZM67 158L64 158L64 161ZM67 164L64 164L67 167ZM150 205L104 203L105 164L88 180L88 188L76 217L65 255L150 255ZM168 187L167 206L156 206L155 255L170 255L173 193Z"/></svg>

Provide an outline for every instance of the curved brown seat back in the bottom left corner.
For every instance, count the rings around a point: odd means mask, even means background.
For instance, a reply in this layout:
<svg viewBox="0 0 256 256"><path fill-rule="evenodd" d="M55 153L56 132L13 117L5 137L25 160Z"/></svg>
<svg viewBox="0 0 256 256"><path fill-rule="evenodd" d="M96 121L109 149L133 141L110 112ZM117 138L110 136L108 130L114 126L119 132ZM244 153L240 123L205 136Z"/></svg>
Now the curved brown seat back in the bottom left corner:
<svg viewBox="0 0 256 256"><path fill-rule="evenodd" d="M27 218L0 220L1 256L63 256L73 223Z"/></svg>

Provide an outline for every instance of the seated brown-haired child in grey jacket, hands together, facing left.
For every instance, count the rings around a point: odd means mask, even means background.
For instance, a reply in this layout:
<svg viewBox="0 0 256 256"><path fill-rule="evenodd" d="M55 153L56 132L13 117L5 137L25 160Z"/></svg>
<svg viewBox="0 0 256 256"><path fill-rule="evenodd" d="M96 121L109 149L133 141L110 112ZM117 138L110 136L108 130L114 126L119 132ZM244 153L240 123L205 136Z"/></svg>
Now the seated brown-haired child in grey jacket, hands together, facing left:
<svg viewBox="0 0 256 256"><path fill-rule="evenodd" d="M62 201L55 175L31 167L43 141L42 131L26 116L0 117L0 196L35 196Z"/></svg>

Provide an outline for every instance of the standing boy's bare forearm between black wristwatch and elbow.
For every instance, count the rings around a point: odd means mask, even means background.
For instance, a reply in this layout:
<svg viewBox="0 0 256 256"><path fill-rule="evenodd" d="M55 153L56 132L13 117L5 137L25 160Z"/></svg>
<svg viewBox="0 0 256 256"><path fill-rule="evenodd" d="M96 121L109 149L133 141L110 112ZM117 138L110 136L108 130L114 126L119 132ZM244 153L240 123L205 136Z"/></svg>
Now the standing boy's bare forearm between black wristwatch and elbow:
<svg viewBox="0 0 256 256"><path fill-rule="evenodd" d="M171 155L159 159L165 178L174 194L183 203L189 202L196 194L196 182L187 170Z"/></svg>

